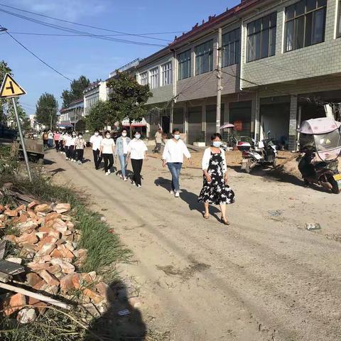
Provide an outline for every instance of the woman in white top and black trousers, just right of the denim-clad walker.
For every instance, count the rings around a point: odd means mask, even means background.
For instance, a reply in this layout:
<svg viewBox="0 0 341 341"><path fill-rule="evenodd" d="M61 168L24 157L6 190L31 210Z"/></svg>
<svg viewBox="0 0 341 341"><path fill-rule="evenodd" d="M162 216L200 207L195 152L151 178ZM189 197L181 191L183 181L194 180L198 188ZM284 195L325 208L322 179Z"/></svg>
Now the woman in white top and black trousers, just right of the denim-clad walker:
<svg viewBox="0 0 341 341"><path fill-rule="evenodd" d="M147 160L146 151L148 151L148 148L144 141L141 140L139 131L136 131L134 136L134 139L129 142L126 160L129 161L129 159L131 159L131 167L133 168L134 173L131 178L132 183L136 185L137 188L141 188L141 169L144 159Z"/></svg>

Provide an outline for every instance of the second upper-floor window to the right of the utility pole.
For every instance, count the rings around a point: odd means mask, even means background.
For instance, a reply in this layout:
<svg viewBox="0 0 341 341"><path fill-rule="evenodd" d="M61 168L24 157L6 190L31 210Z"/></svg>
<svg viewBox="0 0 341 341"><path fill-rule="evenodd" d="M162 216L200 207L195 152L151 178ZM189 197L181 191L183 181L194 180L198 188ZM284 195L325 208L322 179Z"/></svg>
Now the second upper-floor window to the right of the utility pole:
<svg viewBox="0 0 341 341"><path fill-rule="evenodd" d="M247 62L276 53L277 13L271 13L247 25Z"/></svg>

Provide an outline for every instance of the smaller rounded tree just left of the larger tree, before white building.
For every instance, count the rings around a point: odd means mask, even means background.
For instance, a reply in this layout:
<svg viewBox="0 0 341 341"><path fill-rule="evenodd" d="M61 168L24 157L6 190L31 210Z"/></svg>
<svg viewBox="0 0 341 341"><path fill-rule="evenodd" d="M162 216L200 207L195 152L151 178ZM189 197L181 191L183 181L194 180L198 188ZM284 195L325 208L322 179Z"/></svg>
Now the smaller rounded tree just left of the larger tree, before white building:
<svg viewBox="0 0 341 341"><path fill-rule="evenodd" d="M104 126L113 126L117 122L117 114L109 101L99 101L94 104L86 117L87 129L103 129Z"/></svg>

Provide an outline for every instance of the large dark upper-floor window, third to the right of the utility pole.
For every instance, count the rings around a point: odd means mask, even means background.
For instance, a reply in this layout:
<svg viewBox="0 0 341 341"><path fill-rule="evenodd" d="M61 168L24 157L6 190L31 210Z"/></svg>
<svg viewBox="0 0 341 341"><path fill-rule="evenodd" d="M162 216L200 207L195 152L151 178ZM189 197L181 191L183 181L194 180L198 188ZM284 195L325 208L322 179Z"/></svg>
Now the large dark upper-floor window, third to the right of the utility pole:
<svg viewBox="0 0 341 341"><path fill-rule="evenodd" d="M326 8L327 0L301 0L286 7L286 52L325 40Z"/></svg>

